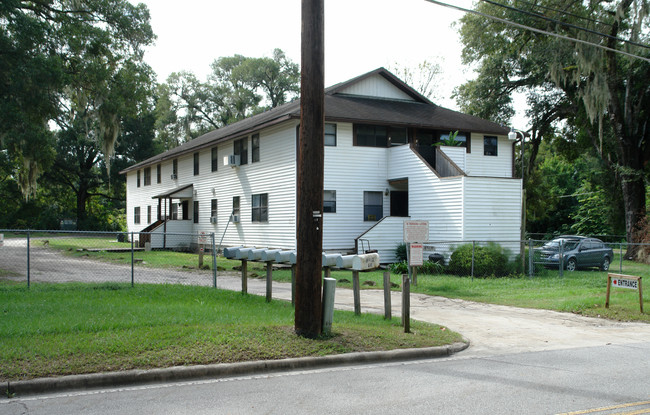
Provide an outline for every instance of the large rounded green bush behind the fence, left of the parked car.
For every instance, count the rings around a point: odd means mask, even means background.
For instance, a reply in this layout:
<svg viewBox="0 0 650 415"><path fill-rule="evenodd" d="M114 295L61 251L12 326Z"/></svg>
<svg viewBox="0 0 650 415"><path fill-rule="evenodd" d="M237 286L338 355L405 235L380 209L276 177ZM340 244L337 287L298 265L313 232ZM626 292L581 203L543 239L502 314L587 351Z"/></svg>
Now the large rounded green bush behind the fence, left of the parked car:
<svg viewBox="0 0 650 415"><path fill-rule="evenodd" d="M509 251L495 243L474 247L474 276L503 277L511 273L508 261ZM469 276L472 274L472 244L461 245L454 250L449 259L448 271L452 274Z"/></svg>

